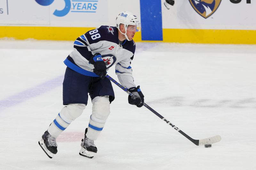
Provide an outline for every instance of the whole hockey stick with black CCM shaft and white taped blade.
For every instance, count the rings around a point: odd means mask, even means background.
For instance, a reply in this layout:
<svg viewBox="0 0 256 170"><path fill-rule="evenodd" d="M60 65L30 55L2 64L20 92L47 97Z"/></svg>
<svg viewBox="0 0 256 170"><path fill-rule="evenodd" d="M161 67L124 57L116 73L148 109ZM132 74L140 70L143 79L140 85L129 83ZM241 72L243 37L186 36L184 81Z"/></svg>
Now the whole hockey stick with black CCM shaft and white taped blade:
<svg viewBox="0 0 256 170"><path fill-rule="evenodd" d="M119 84L118 82L116 82L116 80L114 80L113 78L111 78L109 75L106 75L106 77L112 81L113 83L115 83L118 87L120 87L121 89L123 89L127 94L129 94L132 97L135 97L135 95L133 95L131 92L129 92L129 90L127 88L125 88L124 86L122 86L121 84ZM180 132L181 135L183 135L184 137L187 137L188 140L190 140L191 142L193 142L195 145L199 146L199 145L203 145L203 144L213 144L216 142L220 142L221 137L220 135L216 135L214 137L209 137L209 138L205 138L205 139L193 139L191 137L189 137L186 133L184 133L182 130L180 130L179 128L177 128L174 124L172 124L171 122L169 122L167 119L165 119L162 115L160 115L159 113L157 113L154 109L152 109L151 107L149 107L146 103L143 103L143 106L147 107L148 110L150 110L151 112L153 112L155 115L157 115L160 119L162 119L164 122L166 122L167 124L169 124L170 126L172 126L173 129L177 130L178 132Z"/></svg>

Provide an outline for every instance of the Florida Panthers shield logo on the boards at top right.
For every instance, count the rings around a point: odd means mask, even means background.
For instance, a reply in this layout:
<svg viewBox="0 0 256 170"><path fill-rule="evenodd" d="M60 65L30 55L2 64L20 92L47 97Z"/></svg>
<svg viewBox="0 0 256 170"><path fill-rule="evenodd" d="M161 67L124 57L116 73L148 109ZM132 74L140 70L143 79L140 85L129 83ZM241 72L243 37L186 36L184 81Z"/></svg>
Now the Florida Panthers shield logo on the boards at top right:
<svg viewBox="0 0 256 170"><path fill-rule="evenodd" d="M189 2L199 15L208 18L218 9L221 0L189 0Z"/></svg>

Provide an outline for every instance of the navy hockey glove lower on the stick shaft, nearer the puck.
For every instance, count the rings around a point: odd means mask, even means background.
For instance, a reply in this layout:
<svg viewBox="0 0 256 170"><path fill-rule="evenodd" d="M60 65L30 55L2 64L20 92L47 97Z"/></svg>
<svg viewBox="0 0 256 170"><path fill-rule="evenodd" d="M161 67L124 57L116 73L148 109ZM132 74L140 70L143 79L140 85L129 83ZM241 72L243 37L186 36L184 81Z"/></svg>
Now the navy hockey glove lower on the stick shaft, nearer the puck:
<svg viewBox="0 0 256 170"><path fill-rule="evenodd" d="M144 103L144 95L140 91L140 86L129 88L129 92L131 92L136 97L132 97L129 95L128 102L131 105L136 105L137 107L142 107L143 103Z"/></svg>

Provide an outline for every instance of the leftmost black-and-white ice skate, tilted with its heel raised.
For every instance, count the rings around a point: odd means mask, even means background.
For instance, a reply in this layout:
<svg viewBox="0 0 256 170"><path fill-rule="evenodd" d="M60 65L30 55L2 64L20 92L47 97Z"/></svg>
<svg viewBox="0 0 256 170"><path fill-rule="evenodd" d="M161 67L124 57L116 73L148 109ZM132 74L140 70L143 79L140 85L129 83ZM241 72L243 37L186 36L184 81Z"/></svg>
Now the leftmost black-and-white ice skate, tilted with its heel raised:
<svg viewBox="0 0 256 170"><path fill-rule="evenodd" d="M58 145L56 144L56 139L46 130L42 136L42 139L38 141L38 144L44 150L49 158L52 158L56 154Z"/></svg>

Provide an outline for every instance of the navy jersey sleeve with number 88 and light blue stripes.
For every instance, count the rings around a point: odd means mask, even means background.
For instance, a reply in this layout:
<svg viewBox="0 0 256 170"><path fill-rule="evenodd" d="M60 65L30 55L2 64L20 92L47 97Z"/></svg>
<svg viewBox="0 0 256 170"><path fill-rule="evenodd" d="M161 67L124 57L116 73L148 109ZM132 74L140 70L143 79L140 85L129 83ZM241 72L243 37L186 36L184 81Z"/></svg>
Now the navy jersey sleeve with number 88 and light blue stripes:
<svg viewBox="0 0 256 170"><path fill-rule="evenodd" d="M86 60L90 61L90 58L94 55L92 50L100 48L102 46L102 40L104 40L104 30L100 27L78 37L74 42L74 48L80 53Z"/></svg>

